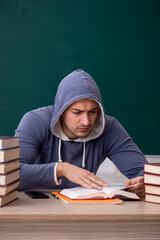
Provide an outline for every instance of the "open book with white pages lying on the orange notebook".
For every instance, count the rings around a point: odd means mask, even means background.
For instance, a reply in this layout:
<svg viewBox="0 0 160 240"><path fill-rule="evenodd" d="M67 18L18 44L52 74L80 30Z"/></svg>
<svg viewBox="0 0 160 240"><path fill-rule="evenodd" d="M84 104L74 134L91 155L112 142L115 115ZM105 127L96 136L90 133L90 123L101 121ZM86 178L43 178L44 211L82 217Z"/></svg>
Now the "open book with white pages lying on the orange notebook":
<svg viewBox="0 0 160 240"><path fill-rule="evenodd" d="M74 187L63 189L60 194L70 199L140 199L135 193L128 192L127 188L124 188L121 185L111 185L109 187L103 187L101 191L97 189Z"/></svg>

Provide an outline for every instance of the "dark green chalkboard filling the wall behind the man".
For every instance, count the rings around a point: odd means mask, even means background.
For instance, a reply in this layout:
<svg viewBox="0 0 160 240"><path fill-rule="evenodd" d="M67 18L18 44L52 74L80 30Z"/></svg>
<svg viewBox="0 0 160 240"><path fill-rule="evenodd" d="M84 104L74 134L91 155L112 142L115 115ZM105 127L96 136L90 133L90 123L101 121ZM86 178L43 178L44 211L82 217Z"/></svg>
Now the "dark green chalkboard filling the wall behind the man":
<svg viewBox="0 0 160 240"><path fill-rule="evenodd" d="M0 0L0 135L82 68L145 154L160 154L159 0Z"/></svg>

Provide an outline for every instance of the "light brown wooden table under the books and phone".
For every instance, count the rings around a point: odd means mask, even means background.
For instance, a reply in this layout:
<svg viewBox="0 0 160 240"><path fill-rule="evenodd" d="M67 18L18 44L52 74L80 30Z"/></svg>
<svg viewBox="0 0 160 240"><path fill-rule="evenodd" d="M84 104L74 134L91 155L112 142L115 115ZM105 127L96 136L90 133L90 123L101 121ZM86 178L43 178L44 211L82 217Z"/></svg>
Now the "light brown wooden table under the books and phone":
<svg viewBox="0 0 160 240"><path fill-rule="evenodd" d="M160 239L160 205L66 204L61 200L19 199L0 208L0 239Z"/></svg>

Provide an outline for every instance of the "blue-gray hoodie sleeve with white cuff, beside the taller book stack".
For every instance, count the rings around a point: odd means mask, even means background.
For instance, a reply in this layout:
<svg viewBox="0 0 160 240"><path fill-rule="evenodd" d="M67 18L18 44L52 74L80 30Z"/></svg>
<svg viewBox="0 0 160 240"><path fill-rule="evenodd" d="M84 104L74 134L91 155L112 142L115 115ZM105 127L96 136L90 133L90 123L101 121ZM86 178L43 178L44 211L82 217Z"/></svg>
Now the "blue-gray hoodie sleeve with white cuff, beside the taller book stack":
<svg viewBox="0 0 160 240"><path fill-rule="evenodd" d="M22 118L15 136L20 137L20 178L19 190L59 185L56 178L56 162L36 164L46 137L40 117L28 112Z"/></svg>

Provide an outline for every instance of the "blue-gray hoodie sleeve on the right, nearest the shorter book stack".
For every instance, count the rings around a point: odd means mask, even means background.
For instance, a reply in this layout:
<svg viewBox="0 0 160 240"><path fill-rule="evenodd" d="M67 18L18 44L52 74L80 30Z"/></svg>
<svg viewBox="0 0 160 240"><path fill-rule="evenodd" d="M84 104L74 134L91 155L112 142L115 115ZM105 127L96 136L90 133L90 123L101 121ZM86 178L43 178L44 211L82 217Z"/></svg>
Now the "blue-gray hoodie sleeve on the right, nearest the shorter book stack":
<svg viewBox="0 0 160 240"><path fill-rule="evenodd" d="M112 118L108 129L108 157L127 178L143 175L144 163L147 160L122 125Z"/></svg>

